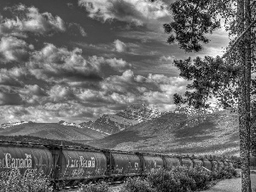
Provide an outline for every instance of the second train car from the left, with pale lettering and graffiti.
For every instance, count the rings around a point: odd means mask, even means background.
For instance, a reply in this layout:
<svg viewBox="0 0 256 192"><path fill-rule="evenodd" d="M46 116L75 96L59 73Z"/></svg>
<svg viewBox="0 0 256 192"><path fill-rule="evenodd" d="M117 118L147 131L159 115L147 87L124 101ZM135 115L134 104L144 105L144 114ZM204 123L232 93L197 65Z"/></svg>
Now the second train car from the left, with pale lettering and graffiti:
<svg viewBox="0 0 256 192"><path fill-rule="evenodd" d="M107 177L107 158L100 150L62 146L49 149L54 159L52 178L56 188L96 182Z"/></svg>

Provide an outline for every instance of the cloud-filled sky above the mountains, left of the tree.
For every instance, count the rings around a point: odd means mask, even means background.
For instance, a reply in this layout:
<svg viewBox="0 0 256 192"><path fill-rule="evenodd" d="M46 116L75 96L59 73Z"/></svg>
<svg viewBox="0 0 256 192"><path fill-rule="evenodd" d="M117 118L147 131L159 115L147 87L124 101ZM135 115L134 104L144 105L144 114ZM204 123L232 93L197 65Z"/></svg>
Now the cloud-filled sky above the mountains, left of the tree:
<svg viewBox="0 0 256 192"><path fill-rule="evenodd" d="M199 53L166 44L170 0L1 0L0 124L80 123L131 104L169 111L188 82L174 59L223 55L223 28Z"/></svg>

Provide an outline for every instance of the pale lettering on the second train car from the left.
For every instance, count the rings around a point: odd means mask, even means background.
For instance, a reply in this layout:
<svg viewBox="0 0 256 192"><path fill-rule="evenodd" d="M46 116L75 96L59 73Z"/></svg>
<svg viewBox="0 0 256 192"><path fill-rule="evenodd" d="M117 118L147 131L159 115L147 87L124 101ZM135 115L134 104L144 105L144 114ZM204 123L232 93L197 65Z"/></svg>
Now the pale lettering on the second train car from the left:
<svg viewBox="0 0 256 192"><path fill-rule="evenodd" d="M95 167L95 158L90 157L90 160L84 160L83 156L79 156L79 160L72 160L70 156L68 156L69 159L67 160L67 167Z"/></svg>

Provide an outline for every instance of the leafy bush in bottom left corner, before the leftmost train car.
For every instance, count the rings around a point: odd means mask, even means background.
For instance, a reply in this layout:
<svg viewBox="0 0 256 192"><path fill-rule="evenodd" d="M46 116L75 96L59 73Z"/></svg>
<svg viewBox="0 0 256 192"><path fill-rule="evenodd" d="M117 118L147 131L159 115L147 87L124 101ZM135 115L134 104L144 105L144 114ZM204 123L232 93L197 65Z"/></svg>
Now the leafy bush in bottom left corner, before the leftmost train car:
<svg viewBox="0 0 256 192"><path fill-rule="evenodd" d="M0 192L50 192L53 191L49 186L48 177L44 173L30 172L21 175L18 169L7 172L1 176Z"/></svg>

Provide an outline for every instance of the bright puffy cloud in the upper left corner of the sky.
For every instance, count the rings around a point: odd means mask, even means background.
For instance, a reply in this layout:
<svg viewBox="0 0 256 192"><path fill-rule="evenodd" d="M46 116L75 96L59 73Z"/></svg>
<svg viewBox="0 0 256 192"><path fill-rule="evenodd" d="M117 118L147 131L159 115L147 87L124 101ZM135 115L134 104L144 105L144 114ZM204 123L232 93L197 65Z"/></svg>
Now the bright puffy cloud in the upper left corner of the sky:
<svg viewBox="0 0 256 192"><path fill-rule="evenodd" d="M64 21L59 16L53 16L48 12L39 13L35 7L18 5L10 9L17 13L15 19L0 20L0 35L12 35L15 37L26 38L27 32L38 35L52 35L55 32L65 32Z"/></svg>

